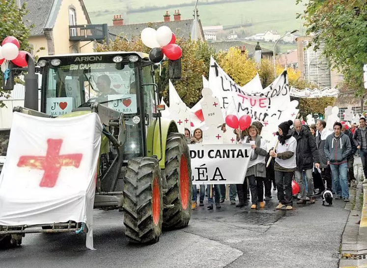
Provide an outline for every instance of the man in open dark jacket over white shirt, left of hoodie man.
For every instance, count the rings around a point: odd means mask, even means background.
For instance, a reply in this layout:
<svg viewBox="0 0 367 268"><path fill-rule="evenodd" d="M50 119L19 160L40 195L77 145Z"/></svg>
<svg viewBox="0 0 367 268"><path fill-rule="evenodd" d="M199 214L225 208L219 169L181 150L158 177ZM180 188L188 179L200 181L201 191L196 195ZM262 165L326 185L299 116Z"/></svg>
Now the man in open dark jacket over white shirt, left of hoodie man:
<svg viewBox="0 0 367 268"><path fill-rule="evenodd" d="M316 146L320 155L320 169L321 169L321 178L326 181L326 189L331 191L333 183L331 180L331 169L328 164L328 159L325 156L325 140L331 132L328 132L326 129L326 122L324 120L318 120L316 123ZM324 183L325 184L325 183Z"/></svg>

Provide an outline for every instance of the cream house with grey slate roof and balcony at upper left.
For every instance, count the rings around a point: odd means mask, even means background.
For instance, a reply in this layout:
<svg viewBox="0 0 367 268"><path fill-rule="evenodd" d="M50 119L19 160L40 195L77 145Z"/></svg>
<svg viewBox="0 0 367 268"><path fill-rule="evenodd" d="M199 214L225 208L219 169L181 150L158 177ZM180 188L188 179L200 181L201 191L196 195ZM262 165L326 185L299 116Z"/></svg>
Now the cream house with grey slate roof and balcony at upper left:
<svg viewBox="0 0 367 268"><path fill-rule="evenodd" d="M28 14L23 18L30 31L29 44L39 56L93 52L93 44L80 41L80 32L69 26L90 25L83 0L19 0L27 2ZM83 34L84 35L84 34ZM72 40L74 39L74 40Z"/></svg>

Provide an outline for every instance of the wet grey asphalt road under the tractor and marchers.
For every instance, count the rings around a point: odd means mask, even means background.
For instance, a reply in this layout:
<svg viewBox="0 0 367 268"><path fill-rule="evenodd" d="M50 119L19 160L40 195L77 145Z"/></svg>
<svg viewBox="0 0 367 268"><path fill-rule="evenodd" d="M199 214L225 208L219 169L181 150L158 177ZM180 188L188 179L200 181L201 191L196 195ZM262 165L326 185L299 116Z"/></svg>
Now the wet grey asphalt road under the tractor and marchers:
<svg viewBox="0 0 367 268"><path fill-rule="evenodd" d="M251 204L251 203L250 203ZM130 244L123 213L94 211L94 247L81 234L27 234L19 248L0 252L0 268L277 268L338 267L349 211L295 205L277 211L276 194L263 210L197 207L187 228L164 232L153 245Z"/></svg>

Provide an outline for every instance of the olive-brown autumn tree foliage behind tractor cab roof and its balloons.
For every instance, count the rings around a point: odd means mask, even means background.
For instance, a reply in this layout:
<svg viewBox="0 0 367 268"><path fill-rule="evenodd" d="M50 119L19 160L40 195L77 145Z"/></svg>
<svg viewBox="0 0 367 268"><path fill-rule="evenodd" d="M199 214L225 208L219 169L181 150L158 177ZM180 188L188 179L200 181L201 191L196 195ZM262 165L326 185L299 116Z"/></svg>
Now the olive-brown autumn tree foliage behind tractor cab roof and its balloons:
<svg viewBox="0 0 367 268"><path fill-rule="evenodd" d="M201 76L208 76L210 55L214 54L214 51L209 48L206 42L193 41L182 37L177 38L176 44L182 49L182 77L180 80L173 80L172 83L181 99L191 107L201 98ZM116 38L109 45L106 43L97 44L95 51L137 51L149 53L150 49L141 42L139 37L133 37L129 42L124 38ZM169 77L167 61L164 61L161 70L156 72L156 82L161 95L168 103Z"/></svg>

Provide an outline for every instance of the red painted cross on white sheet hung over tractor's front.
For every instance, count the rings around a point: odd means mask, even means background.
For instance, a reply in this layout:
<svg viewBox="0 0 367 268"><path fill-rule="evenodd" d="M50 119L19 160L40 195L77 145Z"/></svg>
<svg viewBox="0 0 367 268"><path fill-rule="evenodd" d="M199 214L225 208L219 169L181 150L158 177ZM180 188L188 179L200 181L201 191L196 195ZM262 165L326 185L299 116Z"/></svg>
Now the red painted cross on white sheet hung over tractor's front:
<svg viewBox="0 0 367 268"><path fill-rule="evenodd" d="M48 139L46 156L21 156L17 166L44 170L39 187L53 188L63 166L79 168L83 154L60 155L62 139Z"/></svg>

